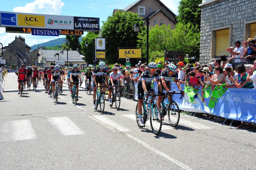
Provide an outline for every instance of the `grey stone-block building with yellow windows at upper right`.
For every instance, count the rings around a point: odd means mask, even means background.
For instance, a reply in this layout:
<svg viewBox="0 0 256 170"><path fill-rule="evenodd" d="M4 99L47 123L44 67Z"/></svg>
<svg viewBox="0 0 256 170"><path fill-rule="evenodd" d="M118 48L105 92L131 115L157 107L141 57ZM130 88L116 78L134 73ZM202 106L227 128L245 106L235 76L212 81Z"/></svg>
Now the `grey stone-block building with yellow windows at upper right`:
<svg viewBox="0 0 256 170"><path fill-rule="evenodd" d="M235 41L256 36L255 0L203 0L201 7L200 63L207 64Z"/></svg>

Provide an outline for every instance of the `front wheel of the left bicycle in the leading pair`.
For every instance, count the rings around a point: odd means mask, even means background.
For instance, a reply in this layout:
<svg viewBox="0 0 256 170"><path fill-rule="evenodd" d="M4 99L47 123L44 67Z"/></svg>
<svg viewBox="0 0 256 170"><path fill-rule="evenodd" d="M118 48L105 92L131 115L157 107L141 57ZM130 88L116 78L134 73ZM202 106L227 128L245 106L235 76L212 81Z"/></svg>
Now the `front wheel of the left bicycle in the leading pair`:
<svg viewBox="0 0 256 170"><path fill-rule="evenodd" d="M150 126L154 134L159 134L162 128L162 113L157 105L150 109Z"/></svg>

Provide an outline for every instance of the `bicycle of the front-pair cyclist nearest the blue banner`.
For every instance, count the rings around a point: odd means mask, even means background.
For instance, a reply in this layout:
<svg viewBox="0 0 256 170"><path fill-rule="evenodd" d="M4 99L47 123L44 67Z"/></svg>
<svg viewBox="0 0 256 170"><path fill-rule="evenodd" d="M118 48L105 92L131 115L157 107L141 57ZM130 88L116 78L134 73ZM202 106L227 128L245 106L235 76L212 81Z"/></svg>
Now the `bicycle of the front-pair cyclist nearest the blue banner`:
<svg viewBox="0 0 256 170"><path fill-rule="evenodd" d="M162 98L162 101L161 101L162 107L160 110L162 112L163 118L168 113L169 123L172 127L175 128L179 124L180 110L179 110L179 105L172 100L172 97L174 94L181 94L181 97L179 99L182 99L183 97L182 93L176 93L176 91L172 91L171 93L167 94L168 96L170 96L169 104L167 106L164 105L165 97Z"/></svg>

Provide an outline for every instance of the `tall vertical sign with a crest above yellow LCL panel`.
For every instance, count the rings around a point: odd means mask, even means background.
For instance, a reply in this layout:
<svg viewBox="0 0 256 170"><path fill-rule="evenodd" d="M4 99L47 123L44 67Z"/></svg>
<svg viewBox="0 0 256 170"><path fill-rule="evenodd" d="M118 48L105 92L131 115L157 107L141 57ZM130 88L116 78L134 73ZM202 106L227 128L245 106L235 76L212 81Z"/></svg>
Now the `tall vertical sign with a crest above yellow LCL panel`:
<svg viewBox="0 0 256 170"><path fill-rule="evenodd" d="M106 59L106 41L105 38L95 38L95 59Z"/></svg>

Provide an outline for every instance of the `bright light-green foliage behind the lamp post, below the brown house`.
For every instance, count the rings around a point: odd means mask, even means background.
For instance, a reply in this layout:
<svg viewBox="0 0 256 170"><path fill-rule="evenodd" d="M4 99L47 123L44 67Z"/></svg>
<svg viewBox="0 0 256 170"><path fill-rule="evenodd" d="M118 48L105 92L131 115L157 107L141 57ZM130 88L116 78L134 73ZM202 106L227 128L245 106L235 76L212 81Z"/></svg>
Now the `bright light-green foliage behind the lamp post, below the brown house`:
<svg viewBox="0 0 256 170"><path fill-rule="evenodd" d="M171 26L155 25L149 30L149 61L155 61L164 56L164 51L184 51L188 57L199 58L200 33L195 31L190 23L177 23L175 29ZM138 35L138 43L142 46L146 55L146 31Z"/></svg>

